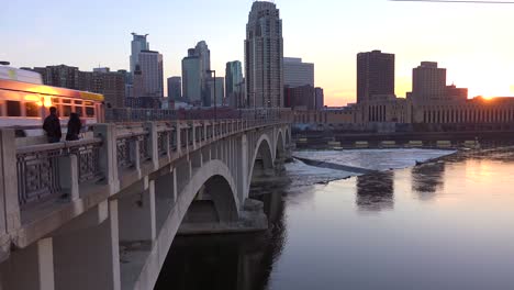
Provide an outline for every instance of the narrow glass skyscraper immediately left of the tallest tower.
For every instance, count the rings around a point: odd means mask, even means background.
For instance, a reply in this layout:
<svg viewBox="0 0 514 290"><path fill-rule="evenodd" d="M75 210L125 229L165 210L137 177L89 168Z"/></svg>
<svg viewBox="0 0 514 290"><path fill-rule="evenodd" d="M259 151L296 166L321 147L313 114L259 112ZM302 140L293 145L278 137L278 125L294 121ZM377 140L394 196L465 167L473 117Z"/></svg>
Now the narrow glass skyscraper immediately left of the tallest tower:
<svg viewBox="0 0 514 290"><path fill-rule="evenodd" d="M243 69L239 60L226 63L225 90L226 104L232 108L243 107Z"/></svg>

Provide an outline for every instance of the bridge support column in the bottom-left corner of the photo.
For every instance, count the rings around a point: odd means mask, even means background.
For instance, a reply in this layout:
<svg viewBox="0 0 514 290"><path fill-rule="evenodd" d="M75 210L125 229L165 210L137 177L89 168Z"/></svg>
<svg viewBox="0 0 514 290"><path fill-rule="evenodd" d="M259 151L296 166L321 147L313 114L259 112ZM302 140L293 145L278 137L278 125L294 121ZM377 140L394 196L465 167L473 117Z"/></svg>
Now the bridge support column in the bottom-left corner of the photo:
<svg viewBox="0 0 514 290"><path fill-rule="evenodd" d="M12 253L11 258L0 265L0 289L55 289L52 238L42 238Z"/></svg>

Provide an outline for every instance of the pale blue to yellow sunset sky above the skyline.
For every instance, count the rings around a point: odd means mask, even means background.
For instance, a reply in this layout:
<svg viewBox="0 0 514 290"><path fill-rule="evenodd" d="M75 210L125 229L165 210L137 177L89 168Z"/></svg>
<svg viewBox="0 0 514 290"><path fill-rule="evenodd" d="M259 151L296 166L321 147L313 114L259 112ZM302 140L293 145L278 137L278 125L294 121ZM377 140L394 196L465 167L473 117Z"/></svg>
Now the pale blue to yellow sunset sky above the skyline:
<svg viewBox="0 0 514 290"><path fill-rule="evenodd" d="M7 3L5 3L7 2ZM165 77L180 75L187 49L206 41L217 75L242 60L249 0L7 0L0 60L12 66L66 64L81 70L127 69L131 32L148 33ZM315 64L325 104L355 101L356 55L396 55L396 94L411 90L422 60L448 69L448 83L472 96L514 96L514 4L277 0L284 56ZM223 71L223 72L222 72Z"/></svg>

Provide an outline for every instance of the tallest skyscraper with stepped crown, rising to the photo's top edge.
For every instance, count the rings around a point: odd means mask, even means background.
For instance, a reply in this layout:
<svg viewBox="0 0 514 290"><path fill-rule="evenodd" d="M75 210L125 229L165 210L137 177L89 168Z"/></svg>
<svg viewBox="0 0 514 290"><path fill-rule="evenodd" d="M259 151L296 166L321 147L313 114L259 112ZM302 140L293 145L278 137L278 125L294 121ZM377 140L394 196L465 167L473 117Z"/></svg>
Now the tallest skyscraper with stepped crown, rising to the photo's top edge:
<svg viewBox="0 0 514 290"><path fill-rule="evenodd" d="M246 96L250 107L283 107L282 20L272 2L255 1L245 40Z"/></svg>

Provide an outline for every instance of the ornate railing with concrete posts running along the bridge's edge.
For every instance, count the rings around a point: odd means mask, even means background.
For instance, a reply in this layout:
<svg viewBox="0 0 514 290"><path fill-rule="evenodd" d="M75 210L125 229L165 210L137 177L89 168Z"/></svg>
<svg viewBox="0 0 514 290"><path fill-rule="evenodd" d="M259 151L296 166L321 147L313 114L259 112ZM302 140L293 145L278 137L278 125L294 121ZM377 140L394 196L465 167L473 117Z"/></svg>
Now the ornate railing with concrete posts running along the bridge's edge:
<svg viewBox="0 0 514 290"><path fill-rule="evenodd" d="M22 221L65 203L86 199L80 205L86 207L98 194L115 194L232 134L290 122L280 110L253 115L94 124L90 138L20 147L14 130L0 130L0 233L18 231Z"/></svg>

